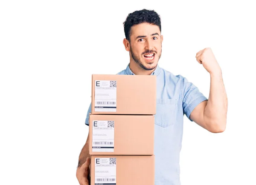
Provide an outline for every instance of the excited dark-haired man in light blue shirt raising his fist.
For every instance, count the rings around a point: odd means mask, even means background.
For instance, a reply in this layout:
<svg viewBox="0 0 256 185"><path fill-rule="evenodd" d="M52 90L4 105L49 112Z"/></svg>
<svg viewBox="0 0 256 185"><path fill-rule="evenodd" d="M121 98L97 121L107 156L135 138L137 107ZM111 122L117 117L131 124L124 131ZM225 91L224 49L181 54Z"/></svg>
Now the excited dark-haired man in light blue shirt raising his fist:
<svg viewBox="0 0 256 185"><path fill-rule="evenodd" d="M127 68L118 74L157 76L157 114L155 115L155 185L180 185L179 156L183 134L183 116L213 133L223 132L227 120L227 95L218 65L210 48L196 54L196 60L210 74L209 99L181 75L160 68L163 35L160 17L155 11L140 10L124 22L123 44L130 54ZM88 125L89 112L85 124ZM77 179L88 185L90 157L88 139L79 156ZM131 177L132 178L132 177Z"/></svg>

